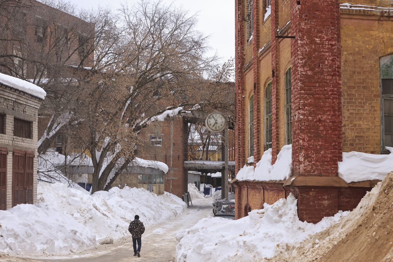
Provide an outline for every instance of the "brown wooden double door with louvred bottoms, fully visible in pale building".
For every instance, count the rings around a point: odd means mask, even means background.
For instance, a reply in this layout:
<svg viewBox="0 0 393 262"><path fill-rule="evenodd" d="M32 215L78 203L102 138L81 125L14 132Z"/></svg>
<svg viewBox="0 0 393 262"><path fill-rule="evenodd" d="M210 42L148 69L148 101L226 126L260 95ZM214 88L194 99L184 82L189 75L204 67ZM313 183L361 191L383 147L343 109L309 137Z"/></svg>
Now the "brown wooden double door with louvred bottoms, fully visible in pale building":
<svg viewBox="0 0 393 262"><path fill-rule="evenodd" d="M34 154L14 151L12 169L12 206L33 203Z"/></svg>

